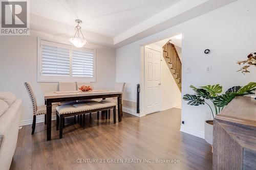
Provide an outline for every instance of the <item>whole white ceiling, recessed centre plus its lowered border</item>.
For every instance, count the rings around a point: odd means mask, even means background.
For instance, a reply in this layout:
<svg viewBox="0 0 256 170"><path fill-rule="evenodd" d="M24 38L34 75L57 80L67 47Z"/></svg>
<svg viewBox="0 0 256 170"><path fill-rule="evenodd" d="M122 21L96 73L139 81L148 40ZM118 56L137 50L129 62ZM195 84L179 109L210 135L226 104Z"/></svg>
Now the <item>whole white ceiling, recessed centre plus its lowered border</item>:
<svg viewBox="0 0 256 170"><path fill-rule="evenodd" d="M81 19L89 43L118 48L235 1L31 0L30 30L70 38Z"/></svg>

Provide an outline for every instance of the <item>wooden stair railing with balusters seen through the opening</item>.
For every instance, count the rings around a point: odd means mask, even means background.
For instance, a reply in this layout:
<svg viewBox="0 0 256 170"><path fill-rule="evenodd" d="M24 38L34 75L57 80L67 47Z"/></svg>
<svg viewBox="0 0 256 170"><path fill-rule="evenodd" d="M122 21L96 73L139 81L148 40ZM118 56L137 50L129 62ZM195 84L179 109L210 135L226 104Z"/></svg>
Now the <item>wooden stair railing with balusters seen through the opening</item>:
<svg viewBox="0 0 256 170"><path fill-rule="evenodd" d="M163 58L181 91L181 61L174 44L170 41L163 46Z"/></svg>

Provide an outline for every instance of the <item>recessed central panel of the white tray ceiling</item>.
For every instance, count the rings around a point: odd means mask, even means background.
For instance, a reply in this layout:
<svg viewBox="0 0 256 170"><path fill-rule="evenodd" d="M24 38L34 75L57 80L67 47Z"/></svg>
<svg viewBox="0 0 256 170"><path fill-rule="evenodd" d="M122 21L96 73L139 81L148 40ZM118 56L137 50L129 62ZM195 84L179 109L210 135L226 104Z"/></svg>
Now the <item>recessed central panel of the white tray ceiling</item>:
<svg viewBox="0 0 256 170"><path fill-rule="evenodd" d="M115 37L181 0L33 0L30 13Z"/></svg>

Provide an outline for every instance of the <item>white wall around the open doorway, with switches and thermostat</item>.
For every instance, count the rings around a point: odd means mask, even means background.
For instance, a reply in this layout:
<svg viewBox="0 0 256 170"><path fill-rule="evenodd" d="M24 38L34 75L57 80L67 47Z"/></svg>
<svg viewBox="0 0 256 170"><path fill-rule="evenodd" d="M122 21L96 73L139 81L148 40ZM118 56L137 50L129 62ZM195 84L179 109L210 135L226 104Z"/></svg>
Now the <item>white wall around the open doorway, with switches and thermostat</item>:
<svg viewBox="0 0 256 170"><path fill-rule="evenodd" d="M207 84L221 84L224 90L234 85L245 85L248 82L256 81L256 68L250 68L251 72L242 75L236 72L239 66L238 60L246 59L247 55L256 51L256 31L254 0L239 0L220 9L204 14L178 26L156 33L132 44L118 48L117 65L124 63L125 58L129 60L128 68L119 72L117 67L117 78L122 76L138 80L140 77L141 61L140 45L150 44L166 37L172 37L182 33L182 68L190 67L190 74L182 74L182 94L193 93L189 85L203 86ZM211 53L204 54L209 48ZM129 55L132 54L132 55ZM127 59L127 57L129 57ZM135 63L135 64L133 64ZM142 64L142 63L141 63ZM212 72L206 72L206 66L212 66ZM123 68L122 68L123 69ZM133 82L130 81L133 86ZM132 95L132 94L131 94ZM130 94L126 94L130 97ZM132 100L128 98L127 100ZM142 106L141 106L142 107ZM183 132L199 137L204 136L205 112L209 109L206 106L188 106L182 101L182 120L185 124L181 126Z"/></svg>

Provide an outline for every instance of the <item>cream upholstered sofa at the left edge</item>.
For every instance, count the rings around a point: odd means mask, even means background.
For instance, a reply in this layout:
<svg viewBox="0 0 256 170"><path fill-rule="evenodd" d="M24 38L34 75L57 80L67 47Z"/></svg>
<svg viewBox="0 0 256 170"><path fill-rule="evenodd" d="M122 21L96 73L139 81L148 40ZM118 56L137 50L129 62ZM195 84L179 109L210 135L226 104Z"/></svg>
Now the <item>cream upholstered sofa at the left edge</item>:
<svg viewBox="0 0 256 170"><path fill-rule="evenodd" d="M10 168L18 138L22 101L10 92L0 92L0 169Z"/></svg>

